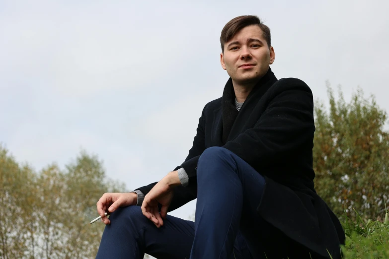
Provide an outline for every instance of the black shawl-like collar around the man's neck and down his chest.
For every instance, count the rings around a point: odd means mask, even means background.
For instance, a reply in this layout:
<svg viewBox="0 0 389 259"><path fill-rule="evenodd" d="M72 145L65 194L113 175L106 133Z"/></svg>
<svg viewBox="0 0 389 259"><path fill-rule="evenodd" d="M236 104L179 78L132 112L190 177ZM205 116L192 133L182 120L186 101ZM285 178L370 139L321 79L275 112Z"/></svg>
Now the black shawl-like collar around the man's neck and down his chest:
<svg viewBox="0 0 389 259"><path fill-rule="evenodd" d="M231 138L231 131L235 129L238 122L244 121L250 113L245 113L246 110L251 110L255 107L257 101L264 95L264 93L277 81L274 73L269 70L258 81L258 83L251 90L243 106L238 112L235 107L235 92L233 90L233 81L231 77L227 81L222 97L222 142L225 144ZM237 121L237 123L235 123Z"/></svg>

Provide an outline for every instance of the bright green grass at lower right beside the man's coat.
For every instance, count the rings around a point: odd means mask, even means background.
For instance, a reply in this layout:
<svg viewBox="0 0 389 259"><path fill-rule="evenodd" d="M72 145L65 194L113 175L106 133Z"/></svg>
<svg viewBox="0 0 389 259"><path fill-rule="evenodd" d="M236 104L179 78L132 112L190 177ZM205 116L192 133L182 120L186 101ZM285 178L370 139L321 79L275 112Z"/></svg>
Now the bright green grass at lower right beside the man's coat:
<svg viewBox="0 0 389 259"><path fill-rule="evenodd" d="M342 223L346 245L342 247L345 259L389 259L389 219L363 220L357 213L356 221L348 218Z"/></svg>

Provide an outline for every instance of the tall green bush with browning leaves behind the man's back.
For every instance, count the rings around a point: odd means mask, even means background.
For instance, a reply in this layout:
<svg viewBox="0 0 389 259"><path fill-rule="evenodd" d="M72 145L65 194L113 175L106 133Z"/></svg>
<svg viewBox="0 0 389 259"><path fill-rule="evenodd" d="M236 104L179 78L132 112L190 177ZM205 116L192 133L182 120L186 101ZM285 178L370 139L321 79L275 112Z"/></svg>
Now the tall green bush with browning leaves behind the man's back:
<svg viewBox="0 0 389 259"><path fill-rule="evenodd" d="M320 102L314 110L315 189L338 215L346 211L355 219L355 209L379 218L389 204L387 114L361 89L346 103L340 88L337 100L328 83L327 88L329 112Z"/></svg>

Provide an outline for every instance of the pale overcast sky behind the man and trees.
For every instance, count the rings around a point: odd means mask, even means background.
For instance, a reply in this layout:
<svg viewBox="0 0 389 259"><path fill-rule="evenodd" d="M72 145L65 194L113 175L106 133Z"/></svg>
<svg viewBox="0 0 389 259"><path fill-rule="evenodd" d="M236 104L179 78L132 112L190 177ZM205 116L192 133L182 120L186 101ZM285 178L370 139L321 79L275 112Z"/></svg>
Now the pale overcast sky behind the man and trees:
<svg viewBox="0 0 389 259"><path fill-rule="evenodd" d="M388 10L386 0L0 0L0 142L37 171L84 149L129 190L158 181L222 96L220 32L243 14L270 27L277 78L300 78L323 101L326 80L347 101L360 86L389 111Z"/></svg>

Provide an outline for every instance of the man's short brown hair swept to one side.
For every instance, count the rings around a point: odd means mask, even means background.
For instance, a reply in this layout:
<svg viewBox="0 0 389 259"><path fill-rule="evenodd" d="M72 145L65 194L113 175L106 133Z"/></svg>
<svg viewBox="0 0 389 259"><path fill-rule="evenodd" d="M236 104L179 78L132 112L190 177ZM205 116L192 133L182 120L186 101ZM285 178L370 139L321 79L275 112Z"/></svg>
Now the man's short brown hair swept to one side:
<svg viewBox="0 0 389 259"><path fill-rule="evenodd" d="M249 25L258 25L263 32L267 45L271 46L270 28L267 27L256 15L241 15L233 18L223 28L222 34L220 35L220 44L222 46L222 52L224 53L224 44L229 42L233 36Z"/></svg>

